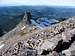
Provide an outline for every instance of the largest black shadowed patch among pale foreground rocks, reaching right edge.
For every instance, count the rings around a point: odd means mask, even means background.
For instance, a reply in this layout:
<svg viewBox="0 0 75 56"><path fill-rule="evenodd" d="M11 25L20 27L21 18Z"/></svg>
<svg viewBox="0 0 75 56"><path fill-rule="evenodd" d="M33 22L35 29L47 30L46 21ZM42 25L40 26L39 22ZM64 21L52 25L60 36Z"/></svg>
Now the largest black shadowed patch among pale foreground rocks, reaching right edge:
<svg viewBox="0 0 75 56"><path fill-rule="evenodd" d="M75 41L75 35L71 37L71 40L69 42L63 42L63 40L60 40L57 44L57 46L54 48L54 51L62 52L63 50L68 49L71 44Z"/></svg>

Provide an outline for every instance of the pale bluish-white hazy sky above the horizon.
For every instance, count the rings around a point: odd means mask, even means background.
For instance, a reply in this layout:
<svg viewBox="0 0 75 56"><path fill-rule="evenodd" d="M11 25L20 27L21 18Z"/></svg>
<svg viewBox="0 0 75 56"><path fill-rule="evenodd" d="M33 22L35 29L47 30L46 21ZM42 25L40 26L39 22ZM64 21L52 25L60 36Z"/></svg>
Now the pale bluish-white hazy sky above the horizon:
<svg viewBox="0 0 75 56"><path fill-rule="evenodd" d="M0 0L0 6L14 6L14 5L75 6L75 0Z"/></svg>

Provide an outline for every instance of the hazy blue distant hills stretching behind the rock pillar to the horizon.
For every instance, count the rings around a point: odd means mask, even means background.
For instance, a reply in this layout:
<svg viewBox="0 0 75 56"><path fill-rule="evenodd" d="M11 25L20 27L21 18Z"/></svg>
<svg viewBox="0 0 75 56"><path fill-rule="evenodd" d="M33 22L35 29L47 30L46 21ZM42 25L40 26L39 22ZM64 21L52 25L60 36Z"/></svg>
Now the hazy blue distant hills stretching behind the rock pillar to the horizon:
<svg viewBox="0 0 75 56"><path fill-rule="evenodd" d="M23 18L25 11L31 11L33 19L49 17L50 19L68 18L75 16L75 8L58 6L12 6L0 7L0 27L8 32L12 30Z"/></svg>

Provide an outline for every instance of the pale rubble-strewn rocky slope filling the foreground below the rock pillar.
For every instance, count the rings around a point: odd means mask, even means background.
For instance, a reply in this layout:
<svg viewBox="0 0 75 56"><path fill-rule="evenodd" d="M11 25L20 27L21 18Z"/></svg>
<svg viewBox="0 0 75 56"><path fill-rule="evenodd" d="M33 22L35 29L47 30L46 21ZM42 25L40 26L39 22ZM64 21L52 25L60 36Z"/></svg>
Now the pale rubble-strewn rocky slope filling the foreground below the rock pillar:
<svg viewBox="0 0 75 56"><path fill-rule="evenodd" d="M75 56L75 17L44 29L23 26L3 36L0 56Z"/></svg>

